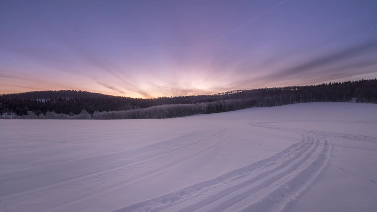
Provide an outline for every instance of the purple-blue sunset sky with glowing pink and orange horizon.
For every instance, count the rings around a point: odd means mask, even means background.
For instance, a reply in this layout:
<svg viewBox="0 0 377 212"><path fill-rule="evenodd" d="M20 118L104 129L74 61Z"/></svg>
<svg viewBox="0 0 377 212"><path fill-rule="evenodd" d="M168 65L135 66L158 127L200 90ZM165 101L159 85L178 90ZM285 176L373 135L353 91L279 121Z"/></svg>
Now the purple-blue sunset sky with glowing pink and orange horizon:
<svg viewBox="0 0 377 212"><path fill-rule="evenodd" d="M135 98L377 77L377 1L0 2L0 94Z"/></svg>

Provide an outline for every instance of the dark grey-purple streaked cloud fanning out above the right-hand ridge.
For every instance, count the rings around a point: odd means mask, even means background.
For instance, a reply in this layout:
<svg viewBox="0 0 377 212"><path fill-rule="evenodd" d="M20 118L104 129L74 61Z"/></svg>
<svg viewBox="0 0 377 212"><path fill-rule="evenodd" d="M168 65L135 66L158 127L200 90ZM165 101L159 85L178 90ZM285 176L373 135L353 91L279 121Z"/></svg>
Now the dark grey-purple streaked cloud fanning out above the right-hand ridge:
<svg viewBox="0 0 377 212"><path fill-rule="evenodd" d="M342 71L354 71L361 68L372 68L377 64L377 58L375 55L377 50L377 40L367 40L363 43L358 43L347 48L340 49L332 53L326 53L294 66L288 66L273 72L271 74L265 74L260 77L250 77L245 80L234 81L233 87L247 87L256 88L260 86L267 86L271 82L277 83L284 80L293 80L290 83L297 84L298 81L310 84L309 78L325 79L331 74L337 74L336 72ZM356 61L360 60L360 56L369 58L374 57L375 60L368 61ZM354 61L350 63L349 61ZM346 64L346 65L345 65ZM331 68L329 68L331 67ZM315 71L315 72L309 72ZM373 72L370 70L369 72ZM357 74L359 74L357 72ZM347 73L346 75L356 75L355 72ZM360 75L360 74L359 74ZM331 80L340 79L331 77ZM329 78L330 80L330 78ZM320 80L316 80L320 81Z"/></svg>

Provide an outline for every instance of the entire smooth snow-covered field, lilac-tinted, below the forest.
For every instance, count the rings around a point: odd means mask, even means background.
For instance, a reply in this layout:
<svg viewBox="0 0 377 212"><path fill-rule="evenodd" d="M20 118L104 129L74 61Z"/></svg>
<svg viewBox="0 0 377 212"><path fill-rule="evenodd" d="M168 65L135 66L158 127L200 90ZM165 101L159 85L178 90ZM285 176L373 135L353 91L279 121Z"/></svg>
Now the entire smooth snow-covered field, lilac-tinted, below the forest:
<svg viewBox="0 0 377 212"><path fill-rule="evenodd" d="M0 120L0 211L377 211L377 104Z"/></svg>

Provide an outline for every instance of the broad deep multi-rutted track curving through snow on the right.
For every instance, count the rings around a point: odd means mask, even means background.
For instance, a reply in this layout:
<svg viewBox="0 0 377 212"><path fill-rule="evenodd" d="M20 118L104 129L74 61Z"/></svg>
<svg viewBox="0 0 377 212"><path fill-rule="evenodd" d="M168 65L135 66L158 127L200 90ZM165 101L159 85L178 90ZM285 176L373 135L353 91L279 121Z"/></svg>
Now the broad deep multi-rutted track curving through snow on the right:
<svg viewBox="0 0 377 212"><path fill-rule="evenodd" d="M170 194L131 204L112 212L158 212L169 208L171 211L192 212L219 201L219 204L211 207L207 212L220 212L268 188L277 181L285 180L288 175L292 175L280 187L241 211L254 211L251 209L262 211L268 209L271 205L274 207L279 205L281 206L280 209L283 209L288 202L293 202L294 197L304 190L305 186L308 186L311 180L325 166L325 161L331 150L329 141L325 138L320 138L318 133L313 131L247 124L253 127L296 132L302 135L303 139L302 142L293 144L284 151L264 160L251 163L211 180L176 190ZM261 173L250 178L249 175L253 172ZM264 182L257 183L262 180ZM300 183L297 185L297 182ZM250 187L250 189L235 194L245 187ZM198 201L189 205L185 204L186 201L193 198L198 199Z"/></svg>

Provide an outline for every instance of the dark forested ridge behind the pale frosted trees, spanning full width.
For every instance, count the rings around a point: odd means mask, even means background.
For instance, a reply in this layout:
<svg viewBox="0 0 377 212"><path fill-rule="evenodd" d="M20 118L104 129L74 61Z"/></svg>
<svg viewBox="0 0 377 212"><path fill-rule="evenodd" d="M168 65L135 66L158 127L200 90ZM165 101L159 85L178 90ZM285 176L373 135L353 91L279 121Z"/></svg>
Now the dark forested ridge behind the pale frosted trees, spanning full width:
<svg viewBox="0 0 377 212"><path fill-rule="evenodd" d="M80 114L82 110L93 114L95 111L127 111L164 104L198 103L206 103L207 108L205 110L201 109L201 112L213 113L302 102L351 101L352 98L355 98L356 102L377 103L377 79L330 82L308 86L234 90L213 95L149 99L74 90L32 91L0 95L0 115L14 114L22 116L29 112L46 114L48 111L54 111L57 114L69 114L72 116ZM192 113L194 112L195 110ZM183 114L182 111L176 112L172 117L178 117L181 114ZM184 114L187 114L187 112Z"/></svg>

